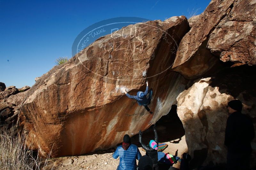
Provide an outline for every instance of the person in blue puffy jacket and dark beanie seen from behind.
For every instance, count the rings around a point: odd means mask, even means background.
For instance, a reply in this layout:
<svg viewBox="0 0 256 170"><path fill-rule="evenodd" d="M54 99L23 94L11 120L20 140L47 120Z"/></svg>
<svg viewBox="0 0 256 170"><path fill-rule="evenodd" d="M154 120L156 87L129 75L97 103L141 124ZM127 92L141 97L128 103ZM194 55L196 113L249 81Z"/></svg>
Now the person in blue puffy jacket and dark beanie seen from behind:
<svg viewBox="0 0 256 170"><path fill-rule="evenodd" d="M116 148L113 154L113 158L120 157L117 170L136 170L136 159L140 159L141 153L136 145L131 144L131 138L129 135L124 135L123 143Z"/></svg>

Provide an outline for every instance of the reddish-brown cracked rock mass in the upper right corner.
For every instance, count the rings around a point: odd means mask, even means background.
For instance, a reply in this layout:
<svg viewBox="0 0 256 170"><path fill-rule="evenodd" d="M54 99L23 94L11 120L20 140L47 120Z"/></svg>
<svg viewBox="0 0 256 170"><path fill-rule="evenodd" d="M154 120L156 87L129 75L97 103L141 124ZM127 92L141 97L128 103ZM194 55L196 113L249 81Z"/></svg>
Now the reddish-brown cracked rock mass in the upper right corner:
<svg viewBox="0 0 256 170"><path fill-rule="evenodd" d="M180 42L172 68L188 79L206 76L222 61L255 64L254 0L212 0Z"/></svg>

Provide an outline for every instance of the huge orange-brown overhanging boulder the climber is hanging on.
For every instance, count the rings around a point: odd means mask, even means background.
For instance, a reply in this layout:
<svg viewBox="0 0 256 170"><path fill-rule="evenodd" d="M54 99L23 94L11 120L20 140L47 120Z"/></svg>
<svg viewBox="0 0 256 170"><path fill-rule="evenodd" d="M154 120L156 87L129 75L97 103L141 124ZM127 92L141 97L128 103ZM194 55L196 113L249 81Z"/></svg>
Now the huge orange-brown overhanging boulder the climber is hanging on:
<svg viewBox="0 0 256 170"><path fill-rule="evenodd" d="M78 155L106 149L166 115L187 81L170 72L184 16L126 26L97 39L67 63L38 78L21 106L19 125L42 155ZM149 114L120 90L153 89Z"/></svg>

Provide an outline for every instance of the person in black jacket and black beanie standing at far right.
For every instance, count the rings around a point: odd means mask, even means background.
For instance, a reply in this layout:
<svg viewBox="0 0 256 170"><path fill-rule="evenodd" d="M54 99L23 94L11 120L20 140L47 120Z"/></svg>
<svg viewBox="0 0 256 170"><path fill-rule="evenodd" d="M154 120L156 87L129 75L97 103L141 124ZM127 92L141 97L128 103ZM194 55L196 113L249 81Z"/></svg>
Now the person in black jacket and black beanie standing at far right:
<svg viewBox="0 0 256 170"><path fill-rule="evenodd" d="M228 169L250 169L251 140L255 136L252 120L241 113L242 102L232 100L228 102L225 145L228 147Z"/></svg>

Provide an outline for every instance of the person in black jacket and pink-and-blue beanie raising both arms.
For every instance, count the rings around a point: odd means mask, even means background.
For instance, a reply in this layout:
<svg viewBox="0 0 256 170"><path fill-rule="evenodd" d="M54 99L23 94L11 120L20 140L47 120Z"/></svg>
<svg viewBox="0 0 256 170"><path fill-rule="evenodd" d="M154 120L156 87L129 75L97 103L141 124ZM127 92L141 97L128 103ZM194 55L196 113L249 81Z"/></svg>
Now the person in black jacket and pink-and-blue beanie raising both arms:
<svg viewBox="0 0 256 170"><path fill-rule="evenodd" d="M150 141L150 145L145 145L142 142L142 132L139 132L139 142L140 145L142 146L143 149L146 151L146 155L148 155L152 161L153 161L153 169L158 170L158 157L157 157L157 149L158 149L158 136L157 136L157 131L156 131L156 124L153 126L153 131L154 131L154 136L155 140Z"/></svg>

